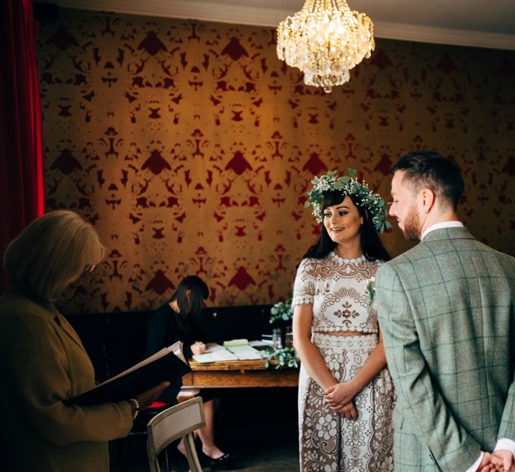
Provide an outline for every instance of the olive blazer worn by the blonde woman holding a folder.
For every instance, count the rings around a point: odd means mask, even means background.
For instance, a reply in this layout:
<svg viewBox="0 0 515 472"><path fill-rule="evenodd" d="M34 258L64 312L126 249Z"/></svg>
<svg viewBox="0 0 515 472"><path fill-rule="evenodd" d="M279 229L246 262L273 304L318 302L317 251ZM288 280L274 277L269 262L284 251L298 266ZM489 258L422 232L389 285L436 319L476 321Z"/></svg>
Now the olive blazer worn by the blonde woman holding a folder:
<svg viewBox="0 0 515 472"><path fill-rule="evenodd" d="M95 386L93 365L52 304L12 286L0 297L0 379L6 470L109 470L107 442L131 430L131 406L63 403Z"/></svg>

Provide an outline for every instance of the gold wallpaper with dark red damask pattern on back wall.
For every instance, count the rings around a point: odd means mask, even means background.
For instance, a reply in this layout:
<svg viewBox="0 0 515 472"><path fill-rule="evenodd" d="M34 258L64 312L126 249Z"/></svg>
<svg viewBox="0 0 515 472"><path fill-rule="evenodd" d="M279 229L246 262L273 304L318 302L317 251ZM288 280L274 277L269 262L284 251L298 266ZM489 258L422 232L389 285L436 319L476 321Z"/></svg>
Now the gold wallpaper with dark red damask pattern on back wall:
<svg viewBox="0 0 515 472"><path fill-rule="evenodd" d="M326 95L274 33L71 9L41 25L47 209L76 210L107 247L64 311L155 309L187 274L209 305L284 299L319 231L312 176L356 168L387 199L413 149L461 165L464 223L515 254L514 52L377 39ZM411 246L396 228L384 243Z"/></svg>

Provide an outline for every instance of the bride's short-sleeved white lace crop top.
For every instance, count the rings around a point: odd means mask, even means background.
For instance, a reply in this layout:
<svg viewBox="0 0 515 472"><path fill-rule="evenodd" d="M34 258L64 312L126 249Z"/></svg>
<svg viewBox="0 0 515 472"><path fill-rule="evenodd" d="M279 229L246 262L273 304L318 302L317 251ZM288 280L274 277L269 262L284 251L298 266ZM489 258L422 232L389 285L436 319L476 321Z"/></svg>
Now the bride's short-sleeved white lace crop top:
<svg viewBox="0 0 515 472"><path fill-rule="evenodd" d="M323 259L303 259L293 287L292 306L313 305L313 333L378 333L377 311L369 303L368 280L380 261L343 259L334 251Z"/></svg>

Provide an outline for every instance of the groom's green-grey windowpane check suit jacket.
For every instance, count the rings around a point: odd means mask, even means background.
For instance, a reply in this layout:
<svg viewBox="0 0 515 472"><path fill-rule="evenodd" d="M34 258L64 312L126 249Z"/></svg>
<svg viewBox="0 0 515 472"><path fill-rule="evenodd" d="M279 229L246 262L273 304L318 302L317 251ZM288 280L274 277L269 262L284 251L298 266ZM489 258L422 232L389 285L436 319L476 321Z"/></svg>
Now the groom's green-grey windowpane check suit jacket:
<svg viewBox="0 0 515 472"><path fill-rule="evenodd" d="M435 229L377 272L395 470L466 471L515 440L515 258Z"/></svg>

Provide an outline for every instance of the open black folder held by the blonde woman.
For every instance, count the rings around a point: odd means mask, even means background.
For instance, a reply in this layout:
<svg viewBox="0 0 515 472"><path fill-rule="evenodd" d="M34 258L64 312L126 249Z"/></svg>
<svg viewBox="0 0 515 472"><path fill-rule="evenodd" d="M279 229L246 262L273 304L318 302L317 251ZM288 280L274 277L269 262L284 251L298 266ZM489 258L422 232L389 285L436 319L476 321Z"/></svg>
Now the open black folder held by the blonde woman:
<svg viewBox="0 0 515 472"><path fill-rule="evenodd" d="M182 354L182 343L177 341L91 390L69 398L66 403L94 405L127 400L163 381L181 377L190 370Z"/></svg>

